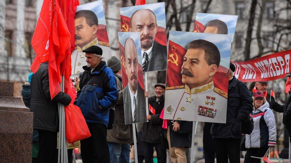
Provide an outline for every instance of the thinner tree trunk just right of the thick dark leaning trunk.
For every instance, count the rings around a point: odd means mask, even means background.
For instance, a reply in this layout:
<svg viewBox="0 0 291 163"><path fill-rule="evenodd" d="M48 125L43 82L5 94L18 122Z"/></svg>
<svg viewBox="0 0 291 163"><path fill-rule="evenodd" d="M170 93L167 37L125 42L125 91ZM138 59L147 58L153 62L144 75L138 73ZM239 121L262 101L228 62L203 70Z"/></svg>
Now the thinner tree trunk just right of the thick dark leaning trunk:
<svg viewBox="0 0 291 163"><path fill-rule="evenodd" d="M262 20L263 20L263 13L265 10L265 4L266 0L262 0L261 6L260 6L260 13L259 13L259 18L258 18L258 24L257 24L257 42L258 42L258 47L259 47L259 53L258 55L261 55L264 51L264 46L262 45L262 39L261 39L261 27L262 27Z"/></svg>

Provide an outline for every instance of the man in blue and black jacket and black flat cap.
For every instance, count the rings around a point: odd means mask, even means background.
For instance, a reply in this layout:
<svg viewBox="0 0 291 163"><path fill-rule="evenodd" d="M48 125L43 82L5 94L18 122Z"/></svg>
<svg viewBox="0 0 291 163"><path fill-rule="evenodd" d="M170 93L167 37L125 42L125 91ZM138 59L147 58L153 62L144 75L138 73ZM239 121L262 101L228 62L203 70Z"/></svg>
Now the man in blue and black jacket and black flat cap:
<svg viewBox="0 0 291 163"><path fill-rule="evenodd" d="M116 79L112 70L101 61L102 49L91 46L85 50L87 66L80 78L80 90L77 92L75 104L80 107L91 137L81 140L82 161L110 161L106 140L109 108L115 105L118 97Z"/></svg>

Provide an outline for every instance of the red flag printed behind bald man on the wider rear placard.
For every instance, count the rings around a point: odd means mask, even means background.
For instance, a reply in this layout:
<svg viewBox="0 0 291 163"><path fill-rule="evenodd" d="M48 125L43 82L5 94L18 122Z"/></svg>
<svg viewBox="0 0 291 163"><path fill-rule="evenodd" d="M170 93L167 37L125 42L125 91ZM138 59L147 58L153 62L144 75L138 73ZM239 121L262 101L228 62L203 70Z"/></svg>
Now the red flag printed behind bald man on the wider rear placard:
<svg viewBox="0 0 291 163"><path fill-rule="evenodd" d="M121 32L128 32L130 29L130 18L120 15ZM167 34L164 27L158 26L155 41L161 45L167 46Z"/></svg>

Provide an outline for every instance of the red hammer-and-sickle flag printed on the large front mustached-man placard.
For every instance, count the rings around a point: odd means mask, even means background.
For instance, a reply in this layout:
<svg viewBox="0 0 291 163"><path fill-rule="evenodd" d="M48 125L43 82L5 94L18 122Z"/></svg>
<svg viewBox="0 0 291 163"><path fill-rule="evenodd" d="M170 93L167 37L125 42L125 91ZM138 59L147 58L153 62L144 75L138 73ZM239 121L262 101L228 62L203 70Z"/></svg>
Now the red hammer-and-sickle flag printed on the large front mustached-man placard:
<svg viewBox="0 0 291 163"><path fill-rule="evenodd" d="M177 79L182 79L181 70L183 57L186 52L187 50L182 46L169 40L166 87L185 85L182 83L182 80ZM226 93L228 89L226 87L228 85L227 71L228 69L226 67L220 65L213 77L214 87L219 88Z"/></svg>

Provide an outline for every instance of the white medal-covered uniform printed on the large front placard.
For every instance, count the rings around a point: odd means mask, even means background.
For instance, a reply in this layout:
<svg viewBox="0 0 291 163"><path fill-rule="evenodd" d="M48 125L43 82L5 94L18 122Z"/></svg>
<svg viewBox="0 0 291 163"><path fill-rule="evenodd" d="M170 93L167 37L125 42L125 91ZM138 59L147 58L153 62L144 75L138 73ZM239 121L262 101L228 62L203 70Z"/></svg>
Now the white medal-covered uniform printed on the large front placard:
<svg viewBox="0 0 291 163"><path fill-rule="evenodd" d="M187 85L166 88L165 119L225 123L227 93L213 81L190 89Z"/></svg>

